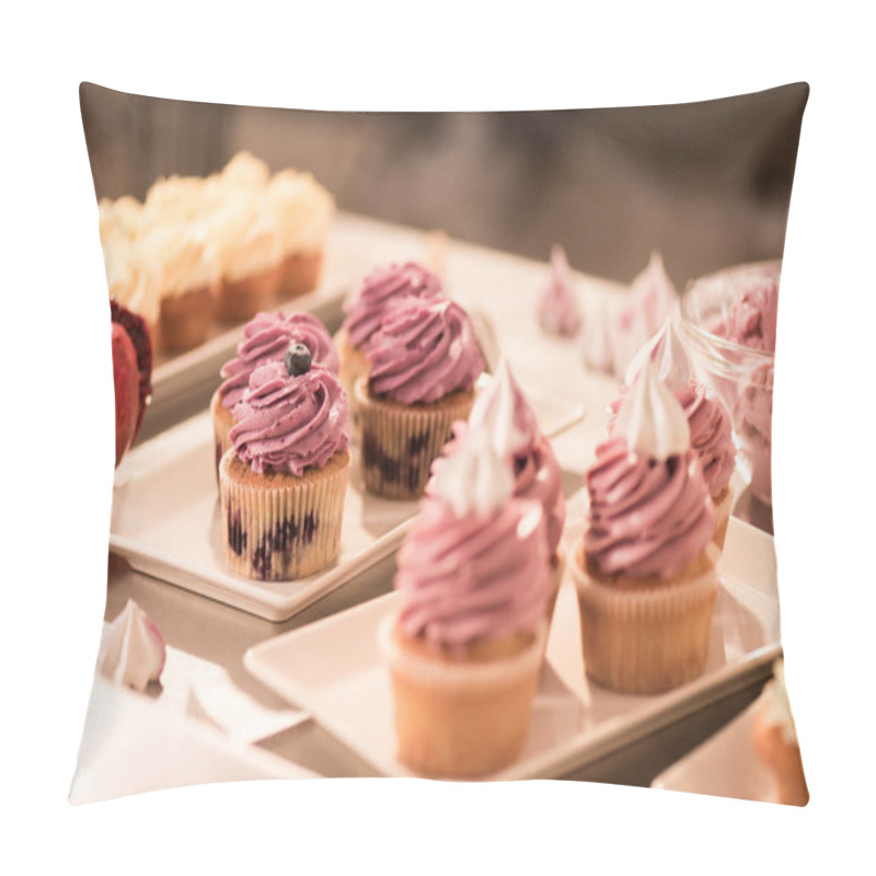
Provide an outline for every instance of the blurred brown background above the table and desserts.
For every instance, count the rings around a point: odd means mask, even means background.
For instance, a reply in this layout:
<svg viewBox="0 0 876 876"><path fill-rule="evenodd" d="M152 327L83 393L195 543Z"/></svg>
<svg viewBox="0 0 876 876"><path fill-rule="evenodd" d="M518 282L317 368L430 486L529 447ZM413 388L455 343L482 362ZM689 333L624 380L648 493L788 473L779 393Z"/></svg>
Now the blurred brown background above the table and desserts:
<svg viewBox="0 0 876 876"><path fill-rule="evenodd" d="M310 171L342 210L629 283L658 250L694 277L782 255L805 83L692 104L323 113L145 97L82 83L95 194L207 175L247 149ZM95 242L96 242L96 211Z"/></svg>

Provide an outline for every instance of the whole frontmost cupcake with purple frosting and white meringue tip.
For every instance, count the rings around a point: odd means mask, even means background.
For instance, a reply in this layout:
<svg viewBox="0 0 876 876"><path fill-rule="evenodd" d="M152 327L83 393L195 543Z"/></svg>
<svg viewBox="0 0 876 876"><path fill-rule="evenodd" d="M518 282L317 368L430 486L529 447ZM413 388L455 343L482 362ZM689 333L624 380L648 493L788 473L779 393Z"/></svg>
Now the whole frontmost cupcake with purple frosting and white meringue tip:
<svg viewBox="0 0 876 876"><path fill-rule="evenodd" d="M420 775L485 776L526 744L550 585L541 505L512 489L508 466L473 433L399 551L401 608L378 641L397 757Z"/></svg>

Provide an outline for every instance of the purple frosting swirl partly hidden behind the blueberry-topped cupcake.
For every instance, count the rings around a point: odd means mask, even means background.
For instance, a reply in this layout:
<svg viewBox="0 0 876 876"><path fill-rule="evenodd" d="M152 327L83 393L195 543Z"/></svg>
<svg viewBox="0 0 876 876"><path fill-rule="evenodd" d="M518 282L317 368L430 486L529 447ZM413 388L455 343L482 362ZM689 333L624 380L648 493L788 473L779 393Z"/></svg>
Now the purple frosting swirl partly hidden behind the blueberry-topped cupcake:
<svg viewBox="0 0 876 876"><path fill-rule="evenodd" d="M243 327L237 358L222 366L224 380L219 397L224 407L233 407L250 385L250 376L262 365L281 362L290 344L304 344L313 366L336 374L337 351L326 327L311 313L256 313Z"/></svg>

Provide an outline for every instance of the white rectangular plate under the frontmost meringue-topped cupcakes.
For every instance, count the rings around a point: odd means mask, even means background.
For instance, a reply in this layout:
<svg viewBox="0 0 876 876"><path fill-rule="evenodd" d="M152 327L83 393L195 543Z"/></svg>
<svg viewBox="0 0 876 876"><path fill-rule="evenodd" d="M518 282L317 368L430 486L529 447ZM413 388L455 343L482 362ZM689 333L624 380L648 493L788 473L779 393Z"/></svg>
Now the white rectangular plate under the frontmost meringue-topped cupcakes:
<svg viewBox="0 0 876 876"><path fill-rule="evenodd" d="M588 682L577 596L566 576L529 739L520 758L491 777L565 775L765 675L781 650L772 538L731 519L721 580L702 677L666 694L635 696ZM395 606L389 593L268 639L246 652L244 665L378 772L406 776L395 758L390 679L376 642L378 624Z"/></svg>

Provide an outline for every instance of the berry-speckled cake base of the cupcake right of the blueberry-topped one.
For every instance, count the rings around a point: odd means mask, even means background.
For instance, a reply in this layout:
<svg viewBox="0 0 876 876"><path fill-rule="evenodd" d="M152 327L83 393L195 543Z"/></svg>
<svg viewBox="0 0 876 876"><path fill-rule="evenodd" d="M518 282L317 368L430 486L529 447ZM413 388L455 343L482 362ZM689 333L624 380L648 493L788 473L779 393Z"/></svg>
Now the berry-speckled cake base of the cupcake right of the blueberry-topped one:
<svg viewBox="0 0 876 876"><path fill-rule="evenodd" d="M451 392L428 404L403 404L371 395L365 376L356 381L354 395L366 489L385 498L420 498L431 463L450 440L453 423L469 418L474 390Z"/></svg>

